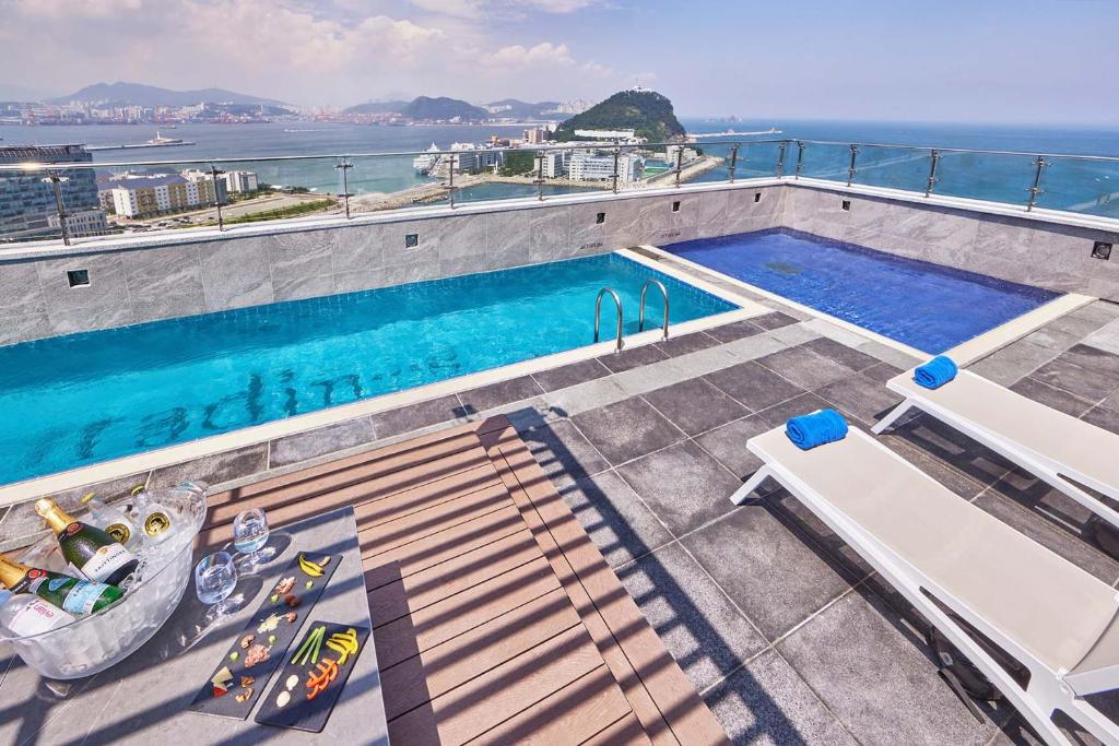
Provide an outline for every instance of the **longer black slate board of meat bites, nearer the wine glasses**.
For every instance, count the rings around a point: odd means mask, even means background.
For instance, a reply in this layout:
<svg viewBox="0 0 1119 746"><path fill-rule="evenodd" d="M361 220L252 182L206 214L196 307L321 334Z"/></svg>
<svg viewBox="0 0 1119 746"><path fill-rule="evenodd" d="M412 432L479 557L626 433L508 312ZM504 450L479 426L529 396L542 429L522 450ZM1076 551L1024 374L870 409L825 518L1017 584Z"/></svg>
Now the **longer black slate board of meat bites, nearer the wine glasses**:
<svg viewBox="0 0 1119 746"><path fill-rule="evenodd" d="M323 557L329 556L330 561L323 566L321 577L311 577L300 568L300 555L303 555L308 559L319 564L321 564L320 560ZM226 654L206 677L201 689L198 690L198 695L190 705L190 709L195 712L236 718L238 720L244 720L248 717L250 711L253 709L253 705L260 698L261 692L264 691L264 687L269 682L269 677L271 677L276 667L284 661L284 657L288 654L288 648L291 645L292 640L295 639L295 634L303 625L303 622L305 622L308 616L310 616L311 610L319 601L319 596L322 595L322 591L327 587L327 583L329 583L330 578L333 577L335 569L337 569L338 564L341 560L341 555L323 555L307 551L297 554L295 557L288 563L283 573L281 573L276 578L276 584L267 588L267 593L264 596L264 601L261 603L260 608L248 618L241 633L233 639L229 650L226 651ZM276 594L276 588L279 587L279 584L284 580L284 578L295 579L295 584L291 589L291 593L299 598L299 605L295 607L291 607L286 604L283 594ZM314 584L311 588L307 587L308 580L311 580ZM279 595L276 601L272 601L274 595ZM292 622L284 618L284 614L289 612L295 613L295 618ZM280 617L275 630L258 632L261 623L273 614ZM254 636L254 644L260 643L269 648L269 658L267 660L256 663L255 665L246 667L245 659L247 658L248 650L242 648L241 642L245 635L250 634ZM269 635L275 635L276 639L271 645L267 644ZM234 652L237 653L237 660L232 660L231 658L231 654ZM223 668L229 669L229 672L233 673L233 681L229 683L229 690L225 695L215 697L214 684L210 680L213 677L217 676L218 671ZM237 696L245 693L245 690L241 686L241 679L245 676L250 676L255 679L251 686L253 691L250 696L245 697L244 701L238 702Z"/></svg>

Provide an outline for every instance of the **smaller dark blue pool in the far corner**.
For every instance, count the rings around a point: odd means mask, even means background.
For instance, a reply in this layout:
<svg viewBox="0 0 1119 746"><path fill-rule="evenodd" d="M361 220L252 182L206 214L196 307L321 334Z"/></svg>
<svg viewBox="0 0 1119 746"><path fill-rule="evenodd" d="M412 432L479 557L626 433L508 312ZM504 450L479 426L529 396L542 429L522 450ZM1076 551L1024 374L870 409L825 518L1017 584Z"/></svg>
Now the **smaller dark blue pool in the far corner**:
<svg viewBox="0 0 1119 746"><path fill-rule="evenodd" d="M933 355L1057 296L783 228L689 240L668 251Z"/></svg>

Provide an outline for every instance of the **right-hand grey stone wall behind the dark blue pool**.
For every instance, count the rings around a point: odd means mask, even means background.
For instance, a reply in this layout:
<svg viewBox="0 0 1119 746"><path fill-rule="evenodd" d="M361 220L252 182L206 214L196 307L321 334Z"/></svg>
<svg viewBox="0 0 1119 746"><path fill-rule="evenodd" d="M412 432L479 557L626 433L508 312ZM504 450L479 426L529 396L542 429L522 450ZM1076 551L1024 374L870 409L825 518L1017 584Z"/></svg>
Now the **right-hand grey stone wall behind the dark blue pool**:
<svg viewBox="0 0 1119 746"><path fill-rule="evenodd" d="M782 224L1002 280L1119 301L1119 233L816 187L787 190ZM1092 258L1098 240L1116 245L1110 261Z"/></svg>

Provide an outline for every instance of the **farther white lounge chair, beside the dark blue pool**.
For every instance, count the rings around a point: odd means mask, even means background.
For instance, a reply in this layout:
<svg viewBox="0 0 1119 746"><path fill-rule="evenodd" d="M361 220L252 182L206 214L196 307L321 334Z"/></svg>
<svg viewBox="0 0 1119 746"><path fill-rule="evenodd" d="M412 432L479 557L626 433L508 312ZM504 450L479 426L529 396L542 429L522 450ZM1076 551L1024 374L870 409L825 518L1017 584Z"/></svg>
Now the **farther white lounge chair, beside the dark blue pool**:
<svg viewBox="0 0 1119 746"><path fill-rule="evenodd" d="M1119 435L968 370L940 388L918 386L912 371L891 378L886 387L905 400L874 426L875 434L910 409L921 409L1119 527L1119 512L1081 489L1119 500Z"/></svg>

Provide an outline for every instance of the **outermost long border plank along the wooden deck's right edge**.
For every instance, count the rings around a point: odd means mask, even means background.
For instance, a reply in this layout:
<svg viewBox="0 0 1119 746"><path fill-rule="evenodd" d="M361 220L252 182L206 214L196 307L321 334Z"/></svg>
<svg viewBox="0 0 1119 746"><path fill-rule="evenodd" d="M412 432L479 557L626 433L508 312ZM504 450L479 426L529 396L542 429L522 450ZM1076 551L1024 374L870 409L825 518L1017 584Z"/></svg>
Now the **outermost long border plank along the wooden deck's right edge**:
<svg viewBox="0 0 1119 746"><path fill-rule="evenodd" d="M610 655L610 649L617 645L624 654L629 663L628 668L640 680L641 688L651 697L660 712L661 723L667 724L675 740L689 744L725 744L726 734L722 726L699 699L692 682L665 650L657 633L648 625L637 604L626 593L613 570L606 565L586 531L563 502L516 432L511 427L506 431L491 429L489 435L483 438L483 443L489 446L491 457L500 455L508 464L523 493L532 501L530 512L535 512L544 522L551 541L547 541L540 533L537 533L537 538L542 539L545 545L553 545L562 551L563 559L574 572L577 584L590 597L596 615L608 626L613 643L600 639L595 640L600 646L603 643L606 645L603 649L603 658L608 664L617 661L617 658ZM498 472L502 473L500 466ZM532 526L530 516L526 516L526 521ZM551 551L547 546L545 546L545 554L549 558L555 557L554 551ZM557 575L561 575L564 580L568 579L570 576L565 577L566 572L562 568L564 561L556 558L555 564L561 567ZM568 586L566 582L564 587L575 601L576 608L582 613L577 599L581 594L573 586ZM590 615L592 623L589 624L589 629L593 624L594 616L595 614ZM584 623L587 623L587 616L584 616ZM645 698L636 688L627 686L629 674L623 667L619 665L618 669L614 669L614 673L619 676L619 681L627 696L634 697L630 699L634 707L634 714L641 719L652 739L658 740L659 736L662 735L662 726L658 726L657 721L652 719L652 714L646 707Z"/></svg>

